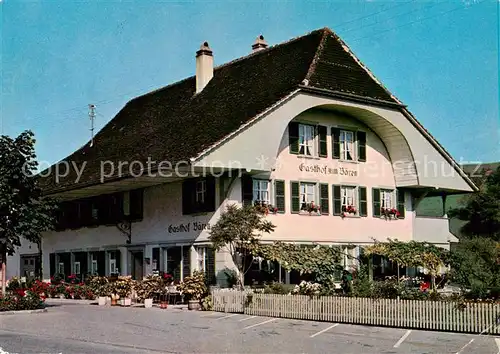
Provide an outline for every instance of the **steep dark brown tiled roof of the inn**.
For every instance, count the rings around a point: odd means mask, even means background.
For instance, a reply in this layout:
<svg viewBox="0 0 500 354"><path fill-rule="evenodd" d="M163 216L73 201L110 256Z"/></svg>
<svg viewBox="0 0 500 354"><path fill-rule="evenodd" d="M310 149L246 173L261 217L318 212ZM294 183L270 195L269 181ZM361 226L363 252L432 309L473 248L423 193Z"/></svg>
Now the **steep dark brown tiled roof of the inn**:
<svg viewBox="0 0 500 354"><path fill-rule="evenodd" d="M307 81L305 81L307 80ZM101 161L189 161L308 82L309 87L399 104L329 29L221 65L199 94L190 77L137 97L65 161L87 162L46 193L99 183ZM73 170L73 169L72 169Z"/></svg>

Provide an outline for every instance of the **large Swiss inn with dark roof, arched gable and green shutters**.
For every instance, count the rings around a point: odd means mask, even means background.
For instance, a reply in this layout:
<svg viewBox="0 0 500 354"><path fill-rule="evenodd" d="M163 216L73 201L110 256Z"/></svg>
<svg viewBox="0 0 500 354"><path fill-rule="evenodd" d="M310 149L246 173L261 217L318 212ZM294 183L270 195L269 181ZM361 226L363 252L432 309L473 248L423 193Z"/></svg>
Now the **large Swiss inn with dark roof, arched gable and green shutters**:
<svg viewBox="0 0 500 354"><path fill-rule="evenodd" d="M43 188L61 210L43 238L45 278L203 270L223 284L234 265L208 236L235 203L271 206L276 230L264 242L343 245L353 256L388 238L456 242L445 213L416 209L475 185L335 33L271 47L260 36L243 58L213 58L204 43L194 76L128 102L60 162L66 176L51 168ZM26 247L21 271L37 255ZM268 272L298 279L279 265Z"/></svg>

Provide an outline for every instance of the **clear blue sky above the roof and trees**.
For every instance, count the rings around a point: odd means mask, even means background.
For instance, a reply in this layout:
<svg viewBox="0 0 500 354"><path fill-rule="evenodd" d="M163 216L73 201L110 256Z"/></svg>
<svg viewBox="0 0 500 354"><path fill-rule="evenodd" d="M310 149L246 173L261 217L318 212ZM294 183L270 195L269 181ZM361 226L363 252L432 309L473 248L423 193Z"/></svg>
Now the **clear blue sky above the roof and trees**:
<svg viewBox="0 0 500 354"><path fill-rule="evenodd" d="M500 160L497 0L0 0L1 133L56 162L142 93L321 27L340 35L459 161Z"/></svg>

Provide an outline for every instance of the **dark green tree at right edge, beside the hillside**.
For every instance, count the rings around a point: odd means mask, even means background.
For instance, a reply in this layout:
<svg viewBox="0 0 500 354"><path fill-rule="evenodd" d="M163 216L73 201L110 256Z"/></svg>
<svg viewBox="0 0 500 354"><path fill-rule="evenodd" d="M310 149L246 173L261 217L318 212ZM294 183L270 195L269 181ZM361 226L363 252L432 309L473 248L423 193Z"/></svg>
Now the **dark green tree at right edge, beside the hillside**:
<svg viewBox="0 0 500 354"><path fill-rule="evenodd" d="M500 241L500 167L486 177L479 192L465 198L448 216L467 221L461 231L468 237Z"/></svg>

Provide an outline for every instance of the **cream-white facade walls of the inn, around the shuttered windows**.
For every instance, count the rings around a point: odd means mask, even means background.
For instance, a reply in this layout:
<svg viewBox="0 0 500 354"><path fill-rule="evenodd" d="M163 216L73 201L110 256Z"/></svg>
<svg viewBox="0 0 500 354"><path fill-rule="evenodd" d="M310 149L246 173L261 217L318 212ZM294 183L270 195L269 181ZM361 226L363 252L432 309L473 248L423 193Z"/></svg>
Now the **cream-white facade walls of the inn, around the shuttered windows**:
<svg viewBox="0 0 500 354"><path fill-rule="evenodd" d="M293 117L292 117L293 118ZM285 130L280 138L279 149L276 155L276 168L270 173L260 175L263 178L285 180L284 214L269 215L268 218L277 227L276 231L263 237L264 241L289 241L299 243L320 242L325 244L370 244L373 240L385 241L387 238L409 241L412 239L442 244L447 235L427 233L431 230L425 226L425 220L418 220L412 207L412 196L406 193L406 217L401 220L385 220L372 216L371 188L396 188L396 178L393 171L386 145L374 131L358 120L348 119L329 111L308 111L298 117L328 126L328 157L327 158L300 158L292 155L288 149L288 132ZM290 119L291 120L291 119ZM367 132L367 161L368 163L339 162L331 158L330 127L350 126L363 129ZM254 140L253 145L242 148L247 151L261 144ZM237 153L238 150L235 151ZM233 160L238 160L235 155ZM322 174L300 170L301 165L321 165L326 168L346 168L356 170L356 176L340 174ZM290 213L290 181L314 181L332 184L353 184L367 187L368 216L341 218L332 215L332 192L329 190L329 215L309 216ZM197 215L182 215L182 183L172 182L146 188L144 191L143 220L132 224L131 243L127 244L127 237L116 226L87 227L78 230L48 232L43 239L43 269L44 277L51 276L49 272L49 254L120 250L121 264L118 265L122 274L131 272L130 250L140 249L144 258L152 259L152 250L155 247L182 245L190 247L191 271L197 269L197 245L207 245L209 231L207 225L213 225L221 210L232 203L241 203L241 181L225 179L221 184L216 183L216 205L218 209L212 213ZM223 188L223 190L221 190ZM226 193L224 193L226 192ZM222 198L220 197L222 196ZM274 204L274 202L272 201ZM429 222L433 222L432 220ZM423 225L424 224L424 225ZM439 224L441 225L442 222ZM433 224L434 225L434 224ZM181 227L182 226L182 227ZM185 229L189 228L189 231ZM181 229L184 229L181 231ZM441 232L440 228L439 232ZM422 232L423 230L423 232ZM444 232L444 231L443 231ZM418 233L418 234L417 234ZM446 245L444 245L446 246ZM232 268L233 263L229 254L218 252L215 257L215 271L219 283L225 280L224 269ZM149 274L152 264L144 262L143 275ZM84 270L86 271L86 270Z"/></svg>

